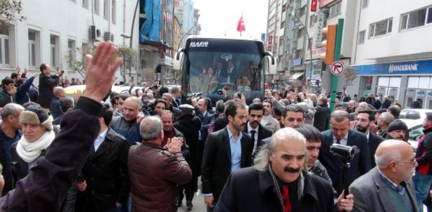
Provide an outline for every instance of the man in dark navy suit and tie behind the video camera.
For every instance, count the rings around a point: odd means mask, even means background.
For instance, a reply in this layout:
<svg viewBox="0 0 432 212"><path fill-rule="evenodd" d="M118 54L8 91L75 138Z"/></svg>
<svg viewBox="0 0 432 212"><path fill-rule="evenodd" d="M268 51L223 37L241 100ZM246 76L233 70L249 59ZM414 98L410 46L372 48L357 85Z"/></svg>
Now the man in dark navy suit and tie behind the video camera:
<svg viewBox="0 0 432 212"><path fill-rule="evenodd" d="M330 146L333 143L338 143L348 146L355 145L360 149L360 153L350 161L349 179L345 185L350 185L352 181L371 169L371 156L367 146L367 137L360 132L349 129L350 115L346 111L334 111L330 116L330 125L331 130L322 132L323 141L318 159L327 169L334 190L340 194L344 189L342 185L344 182L341 182L342 169L338 158L331 154Z"/></svg>

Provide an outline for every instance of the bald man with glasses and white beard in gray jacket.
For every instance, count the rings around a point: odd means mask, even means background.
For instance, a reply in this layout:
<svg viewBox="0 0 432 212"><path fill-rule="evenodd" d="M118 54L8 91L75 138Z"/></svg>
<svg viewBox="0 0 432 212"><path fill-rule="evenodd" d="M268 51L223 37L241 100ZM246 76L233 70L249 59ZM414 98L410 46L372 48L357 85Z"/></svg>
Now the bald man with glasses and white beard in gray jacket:
<svg viewBox="0 0 432 212"><path fill-rule="evenodd" d="M412 176L417 161L409 143L385 140L375 153L377 167L350 186L353 211L418 211Z"/></svg>

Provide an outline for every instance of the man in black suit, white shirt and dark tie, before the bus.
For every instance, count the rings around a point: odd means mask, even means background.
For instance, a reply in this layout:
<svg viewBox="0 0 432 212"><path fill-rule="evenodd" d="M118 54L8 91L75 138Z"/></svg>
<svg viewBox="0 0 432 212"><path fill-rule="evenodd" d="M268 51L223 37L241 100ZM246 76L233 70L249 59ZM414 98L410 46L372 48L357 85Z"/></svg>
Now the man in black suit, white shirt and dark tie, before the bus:
<svg viewBox="0 0 432 212"><path fill-rule="evenodd" d="M260 125L263 114L264 106L262 103L252 103L249 105L249 121L247 127L244 128L244 132L251 136L254 147L252 150L253 155L263 145L262 140L269 138L273 134L271 130Z"/></svg>

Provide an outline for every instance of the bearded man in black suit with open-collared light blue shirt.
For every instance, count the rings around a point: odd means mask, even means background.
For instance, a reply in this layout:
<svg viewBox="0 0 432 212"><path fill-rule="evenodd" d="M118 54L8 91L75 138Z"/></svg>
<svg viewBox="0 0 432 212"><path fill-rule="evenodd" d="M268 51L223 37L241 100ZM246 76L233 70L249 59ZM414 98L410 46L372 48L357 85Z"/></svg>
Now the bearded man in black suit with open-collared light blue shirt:
<svg viewBox="0 0 432 212"><path fill-rule="evenodd" d="M205 142L202 158L202 193L207 211L213 211L229 175L252 164L251 137L244 133L248 111L234 101L226 107L228 126L210 133Z"/></svg>

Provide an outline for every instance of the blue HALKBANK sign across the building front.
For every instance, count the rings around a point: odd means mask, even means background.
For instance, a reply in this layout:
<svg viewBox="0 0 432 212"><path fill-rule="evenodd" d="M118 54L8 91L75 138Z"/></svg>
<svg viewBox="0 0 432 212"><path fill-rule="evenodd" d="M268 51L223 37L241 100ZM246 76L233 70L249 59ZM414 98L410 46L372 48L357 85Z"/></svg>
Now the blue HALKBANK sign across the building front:
<svg viewBox="0 0 432 212"><path fill-rule="evenodd" d="M432 60L416 60L398 63L351 65L362 76L371 75L430 75Z"/></svg>

